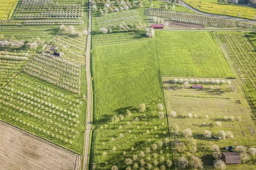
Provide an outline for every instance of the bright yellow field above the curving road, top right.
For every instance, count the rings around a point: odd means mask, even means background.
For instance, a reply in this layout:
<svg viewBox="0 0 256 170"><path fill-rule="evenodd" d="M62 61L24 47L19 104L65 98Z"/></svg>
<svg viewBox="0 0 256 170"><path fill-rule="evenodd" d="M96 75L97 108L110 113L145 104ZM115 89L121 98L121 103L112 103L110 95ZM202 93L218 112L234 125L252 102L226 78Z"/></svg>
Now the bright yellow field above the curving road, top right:
<svg viewBox="0 0 256 170"><path fill-rule="evenodd" d="M197 8L199 11L219 14L219 15L228 15L233 17L240 17L253 20L253 17L256 17L256 9L247 7L247 6L238 6L230 4L220 4L220 3L211 3L198 0L183 0L188 5L193 8Z"/></svg>

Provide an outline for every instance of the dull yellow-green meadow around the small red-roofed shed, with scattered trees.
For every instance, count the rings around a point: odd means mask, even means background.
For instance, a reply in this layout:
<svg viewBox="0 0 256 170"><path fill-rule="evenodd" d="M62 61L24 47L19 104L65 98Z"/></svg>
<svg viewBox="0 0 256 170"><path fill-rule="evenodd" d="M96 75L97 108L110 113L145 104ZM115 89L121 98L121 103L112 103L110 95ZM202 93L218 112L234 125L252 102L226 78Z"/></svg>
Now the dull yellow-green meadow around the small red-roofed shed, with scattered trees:
<svg viewBox="0 0 256 170"><path fill-rule="evenodd" d="M170 115L172 111L177 112L177 117L169 118L172 129L176 125L179 127L178 132L180 135L175 136L172 133L174 142L183 142L187 146L189 143L191 144L193 140L186 140L182 136L182 131L190 128L193 132L192 137L195 139L196 147L198 147L197 151L193 154L201 157L204 165L207 167L206 169L210 168L208 166L211 166L214 160L213 157L208 155L211 154L209 148L212 144L217 144L222 152L225 152L224 147L233 146L235 141L237 142L236 146L256 147L256 136L253 134L253 130L256 127L253 121L255 117L236 79L229 79L231 80L231 85L212 85L214 90L211 90L209 89L210 85L204 85L203 89L180 89L178 88L180 87L179 84L173 84L170 81L175 78L180 79L181 77L163 77L168 114ZM191 77L182 78L191 79ZM232 91L230 91L230 87L233 87ZM219 90L216 88L219 88ZM188 118L188 113L192 113L192 118ZM194 118L194 114L198 118ZM205 115L209 115L209 118L204 118ZM224 116L233 116L235 120L233 122L224 120ZM221 122L221 127L215 125L217 121ZM203 125L203 122L205 122L205 125ZM209 139L205 138L203 136L204 130L211 131L212 137ZM215 139L214 136L218 130L231 131L233 138ZM192 146L188 146L188 150L190 149L192 149ZM192 151L183 150L178 152L175 150L175 159L177 161L180 156L190 156L191 154ZM255 162L249 161L241 165L239 167L231 165L227 169L244 170L245 167L254 169Z"/></svg>

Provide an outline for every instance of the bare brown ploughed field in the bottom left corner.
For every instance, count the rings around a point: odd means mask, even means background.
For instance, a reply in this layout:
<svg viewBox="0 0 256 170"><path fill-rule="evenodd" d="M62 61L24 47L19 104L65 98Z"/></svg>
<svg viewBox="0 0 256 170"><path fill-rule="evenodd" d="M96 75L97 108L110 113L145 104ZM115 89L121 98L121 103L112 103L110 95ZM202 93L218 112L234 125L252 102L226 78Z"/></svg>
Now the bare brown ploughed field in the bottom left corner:
<svg viewBox="0 0 256 170"><path fill-rule="evenodd" d="M0 139L0 170L81 169L81 156L3 122Z"/></svg>

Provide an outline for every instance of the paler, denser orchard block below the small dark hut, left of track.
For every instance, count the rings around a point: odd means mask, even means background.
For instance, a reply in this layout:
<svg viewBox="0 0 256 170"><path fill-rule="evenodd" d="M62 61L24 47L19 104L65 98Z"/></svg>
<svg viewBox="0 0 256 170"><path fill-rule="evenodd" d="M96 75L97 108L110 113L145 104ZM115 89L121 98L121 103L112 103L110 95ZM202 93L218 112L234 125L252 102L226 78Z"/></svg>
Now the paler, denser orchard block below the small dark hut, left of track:
<svg viewBox="0 0 256 170"><path fill-rule="evenodd" d="M80 65L65 59L43 54L29 62L24 71L48 82L57 83L61 87L80 93Z"/></svg>

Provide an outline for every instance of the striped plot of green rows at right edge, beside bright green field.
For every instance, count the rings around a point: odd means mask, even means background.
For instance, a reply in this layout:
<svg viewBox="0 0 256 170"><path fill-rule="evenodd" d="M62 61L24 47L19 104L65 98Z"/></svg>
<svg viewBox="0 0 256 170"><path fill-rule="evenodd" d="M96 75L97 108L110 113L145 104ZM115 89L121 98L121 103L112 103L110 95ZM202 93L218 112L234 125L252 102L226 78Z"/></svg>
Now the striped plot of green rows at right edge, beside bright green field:
<svg viewBox="0 0 256 170"><path fill-rule="evenodd" d="M244 82L244 92L256 111L256 53L244 34L217 34Z"/></svg>

